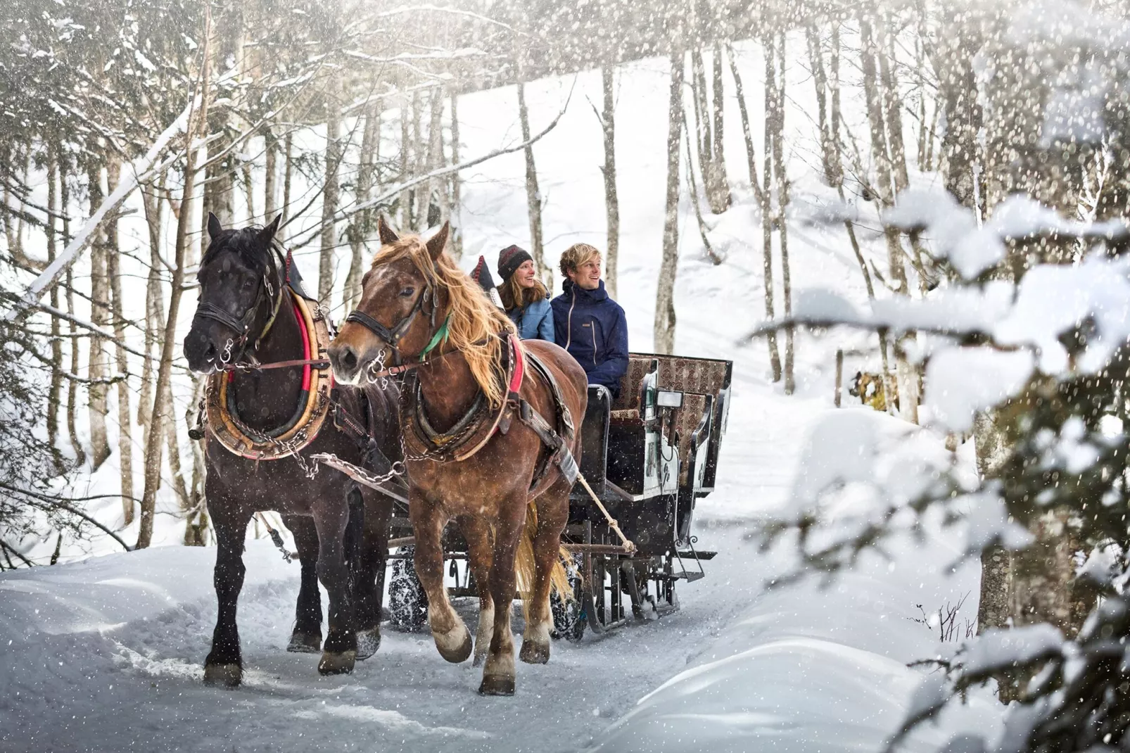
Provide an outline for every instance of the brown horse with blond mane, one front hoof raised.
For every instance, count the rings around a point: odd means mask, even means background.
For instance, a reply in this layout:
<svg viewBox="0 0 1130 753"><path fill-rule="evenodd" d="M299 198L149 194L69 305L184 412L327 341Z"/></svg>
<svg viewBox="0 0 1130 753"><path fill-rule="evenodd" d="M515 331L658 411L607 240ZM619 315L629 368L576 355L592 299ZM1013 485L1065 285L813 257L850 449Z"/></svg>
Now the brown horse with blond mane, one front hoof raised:
<svg viewBox="0 0 1130 753"><path fill-rule="evenodd" d="M427 243L415 235L399 237L383 218L379 230L381 250L362 282L357 311L329 349L330 362L345 383L357 383L366 370L383 369L390 356L397 364L408 360L401 365L414 369L402 388L401 432L416 572L427 591L428 624L443 658L468 658L470 633L443 586L441 536L454 518L480 586L476 659L487 656L479 692L511 695L515 587L528 606L521 659L549 660L549 591L564 581L558 552L572 486L548 464L550 451L525 422L528 413L522 419L514 415L523 399L549 417L557 415L558 403L534 369L524 372L520 386L512 375L507 384L514 367L507 371L506 364L524 357L511 348L528 348L545 364L559 386L560 403L577 421L584 416L588 382L573 357L553 343L519 345L510 337L510 319L443 252L446 224ZM516 395L508 395L514 388ZM566 440L564 447L580 457L580 432L566 433ZM421 451L421 443L428 449ZM532 578L525 574L527 557L533 561Z"/></svg>

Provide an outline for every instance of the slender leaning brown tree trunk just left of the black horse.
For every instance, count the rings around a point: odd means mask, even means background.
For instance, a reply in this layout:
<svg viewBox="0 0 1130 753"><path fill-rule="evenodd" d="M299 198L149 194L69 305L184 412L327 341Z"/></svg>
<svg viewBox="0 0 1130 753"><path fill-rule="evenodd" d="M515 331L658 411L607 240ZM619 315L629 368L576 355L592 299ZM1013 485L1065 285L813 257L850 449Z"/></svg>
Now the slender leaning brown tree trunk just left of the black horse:
<svg viewBox="0 0 1130 753"><path fill-rule="evenodd" d="M185 144L191 145L197 138L201 123L208 122L208 97L209 73L211 70L208 58L208 47L211 41L211 14L210 7L205 7L205 50L201 59L203 62L203 76L201 80L201 107L200 112L189 114L189 123L185 129ZM169 375L173 370L173 347L176 336L176 314L181 306L181 295L184 288L184 256L188 246L189 231L189 206L192 201L193 189L197 181L197 152L189 148L185 155L184 165L184 189L181 194L181 215L176 223L176 237L173 245L173 284L168 300L168 315L165 319L165 336L162 341L160 361L157 369L157 386L154 390L154 409L151 415L162 413L162 403L166 391L169 389ZM138 533L137 548L146 548L153 540L153 523L157 508L157 486L160 482L160 431L150 431L146 442L145 453L145 491L141 495L141 527Z"/></svg>

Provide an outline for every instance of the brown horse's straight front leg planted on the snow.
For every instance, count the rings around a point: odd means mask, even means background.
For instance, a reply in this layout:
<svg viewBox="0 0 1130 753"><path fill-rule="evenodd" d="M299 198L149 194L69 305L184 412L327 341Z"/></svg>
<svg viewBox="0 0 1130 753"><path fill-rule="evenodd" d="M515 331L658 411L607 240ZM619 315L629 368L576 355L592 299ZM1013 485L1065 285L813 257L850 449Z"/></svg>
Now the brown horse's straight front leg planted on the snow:
<svg viewBox="0 0 1130 753"><path fill-rule="evenodd" d="M479 685L479 693L484 695L514 694L514 637L510 632L510 612L518 587L514 556L525 519L525 492L501 500L498 509L502 514L495 520L494 559L490 563L495 623L490 650L483 667L483 684Z"/></svg>

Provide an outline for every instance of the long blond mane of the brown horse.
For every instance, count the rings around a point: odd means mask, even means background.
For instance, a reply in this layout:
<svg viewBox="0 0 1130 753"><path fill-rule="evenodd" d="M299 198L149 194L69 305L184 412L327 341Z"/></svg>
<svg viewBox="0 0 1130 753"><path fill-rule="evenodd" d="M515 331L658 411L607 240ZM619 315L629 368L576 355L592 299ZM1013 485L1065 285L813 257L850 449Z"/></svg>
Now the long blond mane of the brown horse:
<svg viewBox="0 0 1130 753"><path fill-rule="evenodd" d="M502 370L503 339L497 335L516 334L514 322L494 305L479 284L460 269L447 252L432 260L427 246L417 235L406 235L381 246L373 267L408 259L433 287L447 294L447 332L451 344L463 354L471 375L490 405L498 407L506 399L505 374ZM438 288L438 289L435 289Z"/></svg>

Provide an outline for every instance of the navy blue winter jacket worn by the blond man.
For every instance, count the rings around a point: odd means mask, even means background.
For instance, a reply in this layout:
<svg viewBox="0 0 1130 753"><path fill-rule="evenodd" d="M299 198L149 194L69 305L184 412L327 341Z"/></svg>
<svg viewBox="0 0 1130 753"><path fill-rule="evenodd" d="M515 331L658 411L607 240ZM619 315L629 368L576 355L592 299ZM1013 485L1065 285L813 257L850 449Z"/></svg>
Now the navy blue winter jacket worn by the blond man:
<svg viewBox="0 0 1130 753"><path fill-rule="evenodd" d="M565 292L551 302L554 336L589 375L615 398L628 370L628 326L624 309L605 292L605 282L586 291L565 280Z"/></svg>

